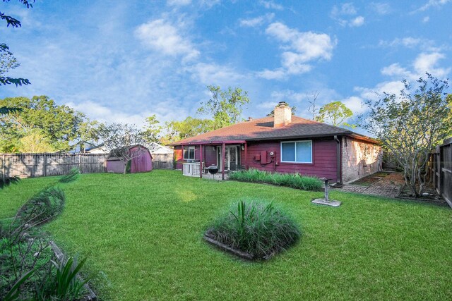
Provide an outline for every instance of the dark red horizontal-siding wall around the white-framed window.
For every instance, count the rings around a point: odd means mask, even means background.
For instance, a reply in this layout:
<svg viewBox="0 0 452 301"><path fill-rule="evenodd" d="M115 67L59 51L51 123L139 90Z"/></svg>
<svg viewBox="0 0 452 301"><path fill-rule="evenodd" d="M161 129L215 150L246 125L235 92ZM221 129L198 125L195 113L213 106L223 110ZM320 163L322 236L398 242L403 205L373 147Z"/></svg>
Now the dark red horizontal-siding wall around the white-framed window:
<svg viewBox="0 0 452 301"><path fill-rule="evenodd" d="M312 140L312 163L281 163L280 141L248 142L246 166L263 171L277 171L280 173L300 173L306 176L325 177L337 181L337 142L331 139ZM275 160L269 164L261 164L256 155L262 151L275 152ZM270 161L270 157L268 157ZM242 164L244 152L242 152Z"/></svg>

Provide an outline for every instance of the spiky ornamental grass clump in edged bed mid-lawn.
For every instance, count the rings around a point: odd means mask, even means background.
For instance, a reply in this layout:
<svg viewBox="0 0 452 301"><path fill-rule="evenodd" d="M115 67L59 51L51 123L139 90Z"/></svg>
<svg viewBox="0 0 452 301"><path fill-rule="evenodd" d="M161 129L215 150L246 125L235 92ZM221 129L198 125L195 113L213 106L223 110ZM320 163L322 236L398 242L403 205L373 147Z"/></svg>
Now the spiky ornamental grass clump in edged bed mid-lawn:
<svg viewBox="0 0 452 301"><path fill-rule="evenodd" d="M297 223L273 203L240 201L215 220L206 236L223 245L268 259L299 239Z"/></svg>

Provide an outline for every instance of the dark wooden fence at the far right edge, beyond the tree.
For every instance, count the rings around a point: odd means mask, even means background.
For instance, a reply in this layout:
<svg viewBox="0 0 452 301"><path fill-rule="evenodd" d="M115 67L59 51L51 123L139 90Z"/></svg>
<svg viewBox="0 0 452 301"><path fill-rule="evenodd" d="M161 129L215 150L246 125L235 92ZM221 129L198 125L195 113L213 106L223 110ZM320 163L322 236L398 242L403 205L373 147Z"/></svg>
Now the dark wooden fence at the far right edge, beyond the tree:
<svg viewBox="0 0 452 301"><path fill-rule="evenodd" d="M436 147L433 158L434 187L452 207L452 137Z"/></svg>

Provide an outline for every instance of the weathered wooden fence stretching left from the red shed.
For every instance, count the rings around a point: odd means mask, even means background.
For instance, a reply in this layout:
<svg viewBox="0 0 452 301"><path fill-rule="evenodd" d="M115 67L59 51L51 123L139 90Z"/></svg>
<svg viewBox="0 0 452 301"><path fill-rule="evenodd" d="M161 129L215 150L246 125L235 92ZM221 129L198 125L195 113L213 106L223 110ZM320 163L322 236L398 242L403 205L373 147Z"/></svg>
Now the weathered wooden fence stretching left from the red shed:
<svg viewBox="0 0 452 301"><path fill-rule="evenodd" d="M1 177L59 176L78 168L81 173L104 173L108 154L0 154Z"/></svg>

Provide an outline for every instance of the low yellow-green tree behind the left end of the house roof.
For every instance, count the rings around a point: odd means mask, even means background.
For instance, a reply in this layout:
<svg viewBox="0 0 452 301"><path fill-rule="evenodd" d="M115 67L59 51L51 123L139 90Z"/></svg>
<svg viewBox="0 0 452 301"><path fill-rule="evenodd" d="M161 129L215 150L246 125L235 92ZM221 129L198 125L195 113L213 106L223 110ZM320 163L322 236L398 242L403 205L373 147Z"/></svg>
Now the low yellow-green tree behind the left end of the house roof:
<svg viewBox="0 0 452 301"><path fill-rule="evenodd" d="M207 133L208 131L213 130L214 121L189 116L183 121L167 122L166 128L167 135L161 139L164 144Z"/></svg>

